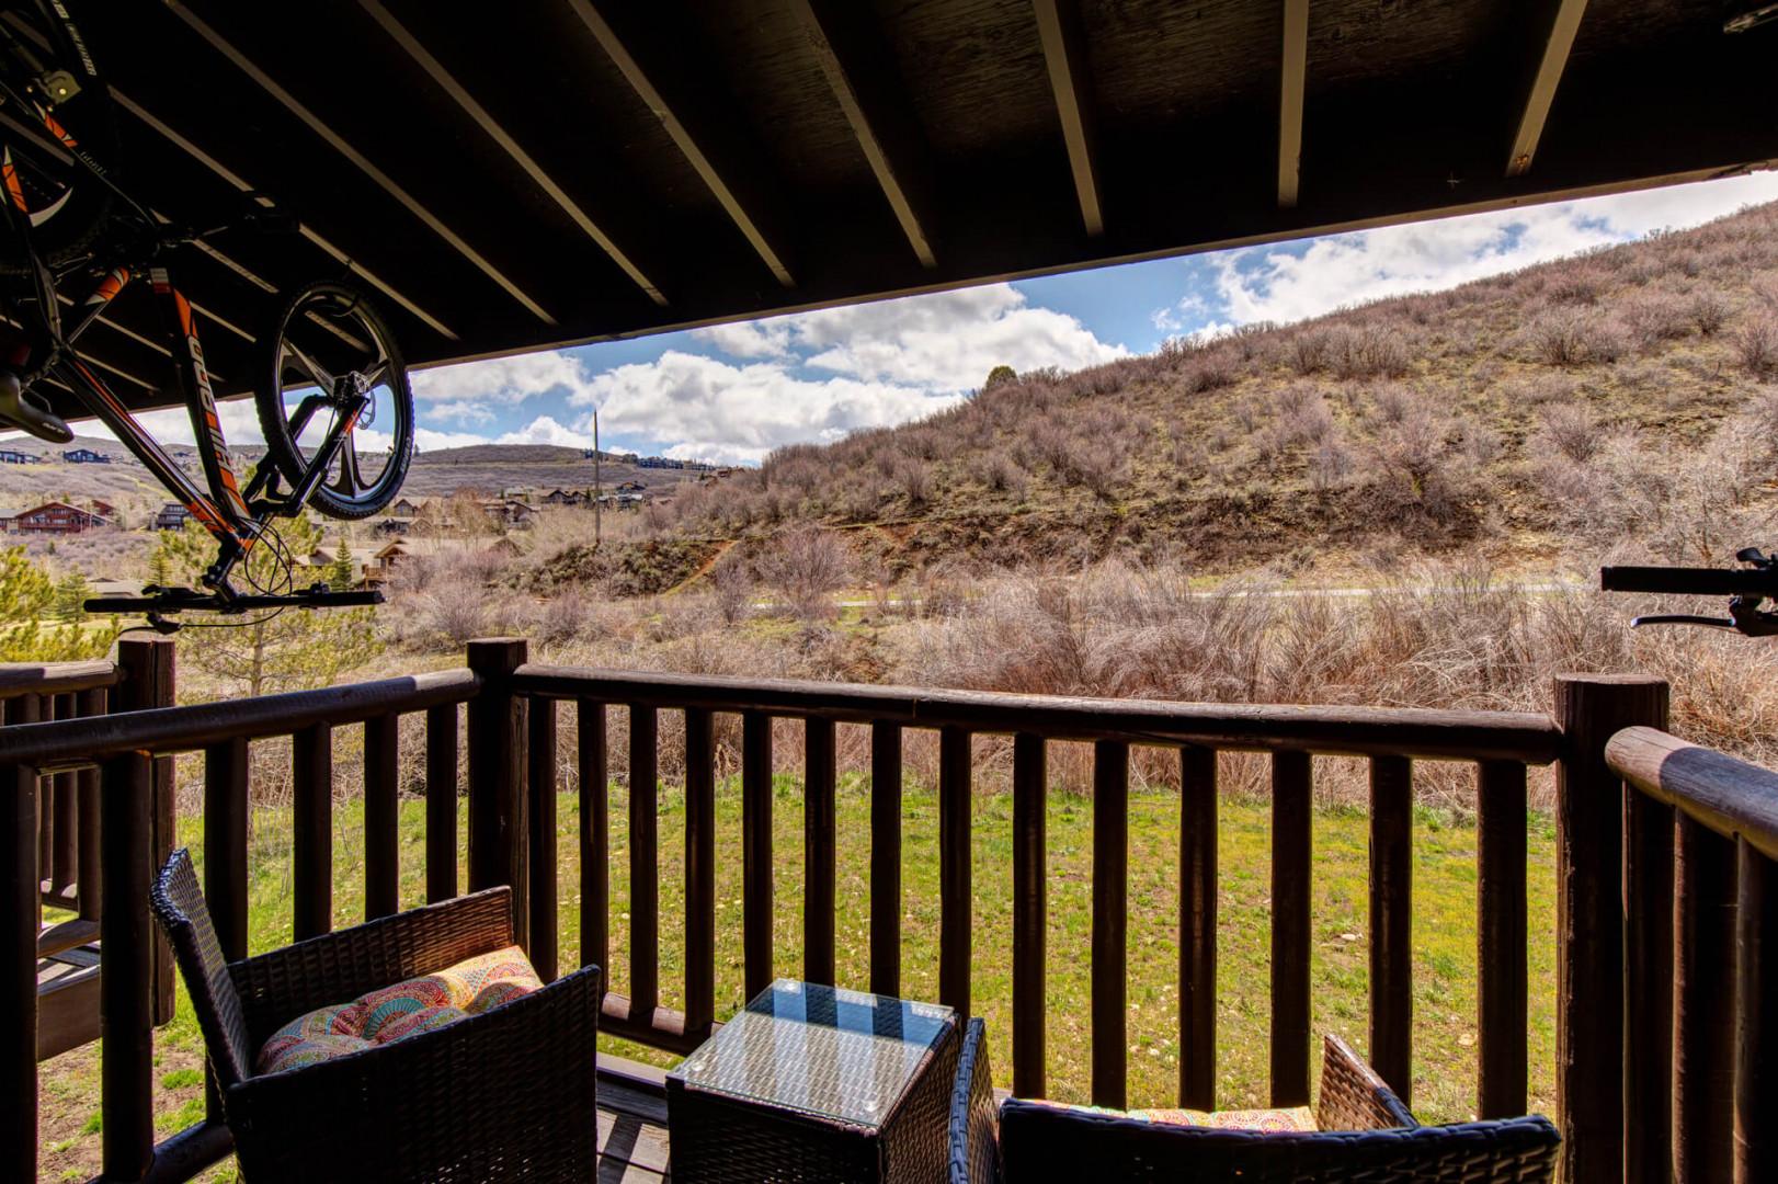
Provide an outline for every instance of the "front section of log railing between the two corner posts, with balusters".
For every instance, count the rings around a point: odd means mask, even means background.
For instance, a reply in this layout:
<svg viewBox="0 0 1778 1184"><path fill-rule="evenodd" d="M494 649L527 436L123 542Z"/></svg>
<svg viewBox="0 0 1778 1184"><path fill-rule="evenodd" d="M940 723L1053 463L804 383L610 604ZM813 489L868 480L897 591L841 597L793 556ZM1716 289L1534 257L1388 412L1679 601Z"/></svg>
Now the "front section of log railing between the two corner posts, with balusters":
<svg viewBox="0 0 1778 1184"><path fill-rule="evenodd" d="M605 1029L670 1051L709 1033L715 981L715 784L711 720L741 720L741 908L745 983L752 992L795 971L834 980L834 725L871 729L869 987L894 992L901 958L901 740L907 729L939 734L939 997L971 1004L971 738L1013 738L1013 1090L1045 1084L1045 745L1093 743L1092 1097L1125 1100L1127 821L1131 745L1177 750L1181 768L1181 1104L1214 1106L1216 965L1216 752L1271 756L1273 930L1271 1097L1309 1100L1309 891L1310 754L1371 759L1371 1047L1378 1070L1408 1095L1412 1033L1410 811L1412 763L1476 764L1481 811L1481 1109L1526 1108L1526 764L1561 756L1561 732L1542 715L1376 708L1278 708L1058 699L976 692L843 686L757 679L688 677L516 665L512 693L530 700L533 782L528 802L553 804L555 700L580 720L581 960L612 965L606 949L606 724L608 706L629 715L629 996L608 994ZM658 716L679 711L686 736L686 955L685 1012L660 1006L656 784ZM802 720L804 965L772 962L772 720ZM514 725L517 727L517 725ZM535 784L546 775L546 786ZM553 809L553 805L549 807ZM551 823L553 827L553 823ZM537 827L533 827L535 830ZM548 834L548 828L542 830ZM533 850L530 926L533 948L555 956L553 846ZM544 900L541 892L549 892ZM861 983L866 985L866 983Z"/></svg>

